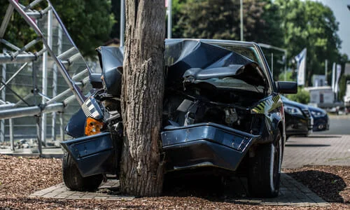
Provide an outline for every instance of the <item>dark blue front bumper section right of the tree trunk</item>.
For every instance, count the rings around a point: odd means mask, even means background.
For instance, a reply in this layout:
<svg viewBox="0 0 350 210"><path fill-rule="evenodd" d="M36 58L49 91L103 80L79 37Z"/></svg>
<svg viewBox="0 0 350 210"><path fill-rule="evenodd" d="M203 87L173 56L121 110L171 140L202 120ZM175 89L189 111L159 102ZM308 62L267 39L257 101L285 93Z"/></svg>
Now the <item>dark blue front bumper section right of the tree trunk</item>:
<svg viewBox="0 0 350 210"><path fill-rule="evenodd" d="M235 171L253 141L260 139L215 123L165 127L161 135L167 172L197 167Z"/></svg>

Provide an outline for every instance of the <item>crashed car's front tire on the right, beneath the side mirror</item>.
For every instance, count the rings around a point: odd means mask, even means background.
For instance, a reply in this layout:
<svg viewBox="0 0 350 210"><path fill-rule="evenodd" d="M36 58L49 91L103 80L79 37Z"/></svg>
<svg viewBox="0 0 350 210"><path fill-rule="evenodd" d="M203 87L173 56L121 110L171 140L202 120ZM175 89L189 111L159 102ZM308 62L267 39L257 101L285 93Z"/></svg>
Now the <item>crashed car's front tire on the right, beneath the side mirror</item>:
<svg viewBox="0 0 350 210"><path fill-rule="evenodd" d="M258 146L255 157L250 158L248 191L252 197L279 195L282 162L281 132L277 130L274 142Z"/></svg>

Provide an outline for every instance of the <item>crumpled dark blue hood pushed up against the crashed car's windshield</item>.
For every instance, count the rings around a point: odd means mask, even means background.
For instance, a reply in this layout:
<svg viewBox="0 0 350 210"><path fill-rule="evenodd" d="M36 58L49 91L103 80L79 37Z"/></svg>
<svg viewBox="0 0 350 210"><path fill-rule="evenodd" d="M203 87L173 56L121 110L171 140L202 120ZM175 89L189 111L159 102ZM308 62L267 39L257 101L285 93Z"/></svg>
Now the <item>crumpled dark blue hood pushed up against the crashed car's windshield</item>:
<svg viewBox="0 0 350 210"><path fill-rule="evenodd" d="M269 76L253 43L221 40L168 39L165 61L168 83L192 80L217 88L266 92Z"/></svg>

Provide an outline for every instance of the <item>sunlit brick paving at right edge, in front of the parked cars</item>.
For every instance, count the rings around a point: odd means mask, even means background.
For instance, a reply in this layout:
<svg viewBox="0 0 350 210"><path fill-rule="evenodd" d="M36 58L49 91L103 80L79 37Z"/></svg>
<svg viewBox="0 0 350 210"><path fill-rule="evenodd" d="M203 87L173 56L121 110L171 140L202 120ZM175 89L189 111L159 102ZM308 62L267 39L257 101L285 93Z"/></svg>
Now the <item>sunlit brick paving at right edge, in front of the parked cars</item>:
<svg viewBox="0 0 350 210"><path fill-rule="evenodd" d="M350 166L350 135L311 134L290 137L283 155L283 168L304 165Z"/></svg>

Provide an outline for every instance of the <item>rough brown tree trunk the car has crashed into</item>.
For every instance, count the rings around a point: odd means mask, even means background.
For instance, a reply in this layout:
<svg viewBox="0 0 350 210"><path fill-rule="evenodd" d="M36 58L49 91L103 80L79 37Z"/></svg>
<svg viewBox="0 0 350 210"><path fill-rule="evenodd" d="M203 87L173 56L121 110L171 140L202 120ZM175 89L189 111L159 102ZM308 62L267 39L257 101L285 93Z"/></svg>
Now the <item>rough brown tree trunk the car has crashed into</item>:
<svg viewBox="0 0 350 210"><path fill-rule="evenodd" d="M125 1L122 193L158 196L164 167L160 128L164 94L164 0Z"/></svg>

